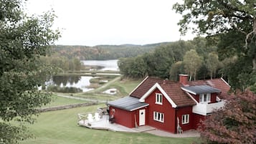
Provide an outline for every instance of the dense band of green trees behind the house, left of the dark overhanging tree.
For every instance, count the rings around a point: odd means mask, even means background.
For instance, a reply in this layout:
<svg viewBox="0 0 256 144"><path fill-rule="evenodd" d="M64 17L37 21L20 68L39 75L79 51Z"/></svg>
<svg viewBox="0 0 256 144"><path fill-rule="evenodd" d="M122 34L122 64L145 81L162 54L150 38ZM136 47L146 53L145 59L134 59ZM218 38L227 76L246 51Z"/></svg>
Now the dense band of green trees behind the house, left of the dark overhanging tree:
<svg viewBox="0 0 256 144"><path fill-rule="evenodd" d="M223 63L218 57L217 46L207 44L204 37L163 43L152 52L119 59L118 67L125 77L134 78L150 75L177 80L177 75L184 73L194 79L223 76L219 72Z"/></svg>

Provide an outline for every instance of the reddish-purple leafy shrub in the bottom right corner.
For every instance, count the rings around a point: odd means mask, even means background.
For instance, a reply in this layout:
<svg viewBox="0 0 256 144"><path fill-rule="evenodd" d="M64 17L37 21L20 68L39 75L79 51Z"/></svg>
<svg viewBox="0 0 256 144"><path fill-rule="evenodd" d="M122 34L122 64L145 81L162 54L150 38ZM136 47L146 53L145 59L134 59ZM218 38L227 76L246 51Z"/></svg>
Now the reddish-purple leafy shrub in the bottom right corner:
<svg viewBox="0 0 256 144"><path fill-rule="evenodd" d="M256 143L256 95L237 92L203 122L204 143Z"/></svg>

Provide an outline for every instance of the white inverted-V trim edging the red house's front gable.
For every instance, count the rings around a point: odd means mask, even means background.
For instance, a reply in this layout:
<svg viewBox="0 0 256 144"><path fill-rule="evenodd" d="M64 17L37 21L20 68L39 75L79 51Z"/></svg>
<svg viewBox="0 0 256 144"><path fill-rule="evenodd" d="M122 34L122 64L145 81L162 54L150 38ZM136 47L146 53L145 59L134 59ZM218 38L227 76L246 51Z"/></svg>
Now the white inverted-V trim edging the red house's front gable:
<svg viewBox="0 0 256 144"><path fill-rule="evenodd" d="M160 90L160 92L163 94L164 97L166 97L166 99L171 103L172 107L177 107L177 105L174 103L173 100L171 100L171 98L169 97L169 95L166 94L166 92L163 90L163 88L156 82L155 85L153 85L153 87L151 87L148 92L146 92L141 99L139 100L140 102L145 102L146 97L148 97L153 90L156 90L156 88L158 88L158 90Z"/></svg>

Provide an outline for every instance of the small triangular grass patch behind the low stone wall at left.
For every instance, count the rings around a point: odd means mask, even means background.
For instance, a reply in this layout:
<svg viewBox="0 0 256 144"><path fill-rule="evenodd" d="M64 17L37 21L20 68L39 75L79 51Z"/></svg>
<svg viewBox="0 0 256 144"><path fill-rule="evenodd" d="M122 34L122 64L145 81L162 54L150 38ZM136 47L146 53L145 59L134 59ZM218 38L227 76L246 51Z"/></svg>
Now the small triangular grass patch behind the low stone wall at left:
<svg viewBox="0 0 256 144"><path fill-rule="evenodd" d="M52 95L52 102L45 105L44 107L54 107L59 105L70 105L70 104L77 104L77 103L85 103L85 100L75 100L65 97L58 97L56 95Z"/></svg>

